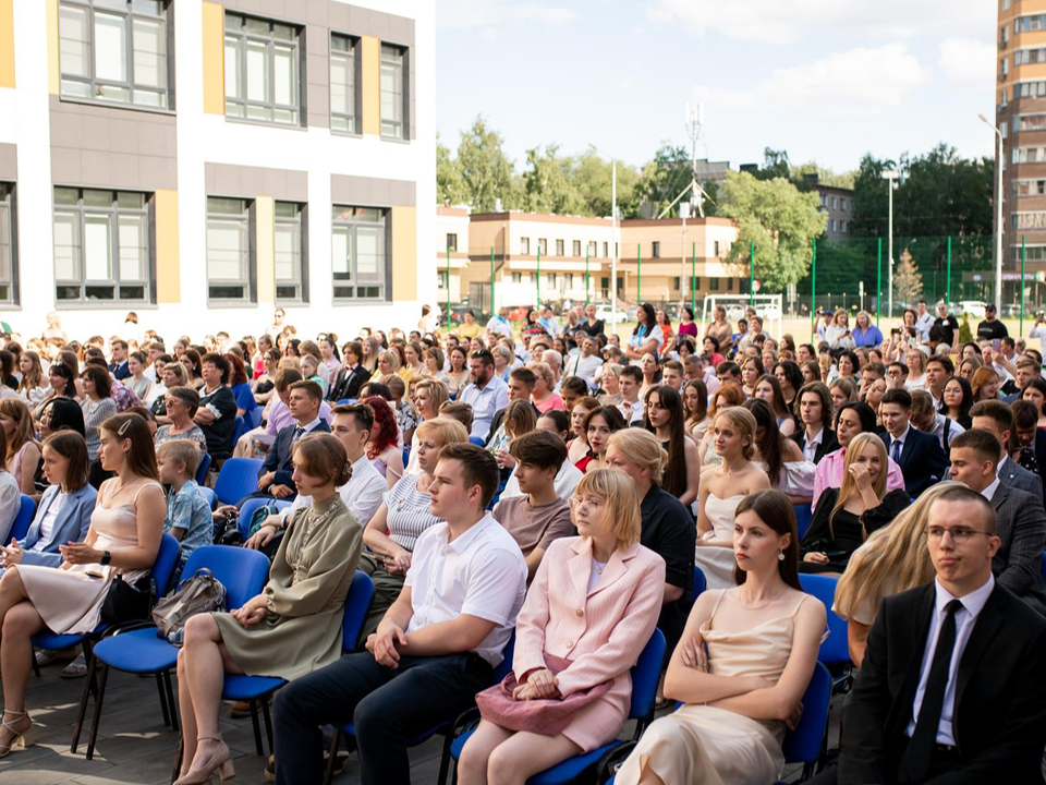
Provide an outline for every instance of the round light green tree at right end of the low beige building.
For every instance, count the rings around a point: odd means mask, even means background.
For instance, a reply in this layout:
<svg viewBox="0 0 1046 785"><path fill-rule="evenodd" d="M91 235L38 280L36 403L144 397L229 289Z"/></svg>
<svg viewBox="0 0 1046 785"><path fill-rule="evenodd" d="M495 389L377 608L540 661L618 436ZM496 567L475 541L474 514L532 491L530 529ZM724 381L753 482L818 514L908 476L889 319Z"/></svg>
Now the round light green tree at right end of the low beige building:
<svg viewBox="0 0 1046 785"><path fill-rule="evenodd" d="M788 180L757 180L747 172L727 172L719 195L719 215L738 222L738 241L729 261L746 265L755 242L755 277L767 292L783 291L810 269L811 241L825 231L819 200L800 193Z"/></svg>

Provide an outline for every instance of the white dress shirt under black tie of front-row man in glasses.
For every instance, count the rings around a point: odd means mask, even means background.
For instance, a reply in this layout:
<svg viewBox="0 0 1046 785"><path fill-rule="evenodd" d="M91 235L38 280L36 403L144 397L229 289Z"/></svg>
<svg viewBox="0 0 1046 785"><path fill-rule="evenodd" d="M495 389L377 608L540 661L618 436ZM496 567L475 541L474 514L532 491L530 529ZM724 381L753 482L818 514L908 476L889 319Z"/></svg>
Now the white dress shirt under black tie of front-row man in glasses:
<svg viewBox="0 0 1046 785"><path fill-rule="evenodd" d="M937 590L937 600L934 605L934 613L929 618L929 631L926 633L926 650L923 652L923 665L919 672L919 688L915 690L915 702L912 704L912 718L909 721L904 733L909 737L915 733L919 711L923 706L923 698L926 695L926 683L929 680L929 667L934 662L937 636L940 635L940 625L947 616L945 607L952 600L958 600L962 603L962 607L956 612L956 648L951 652L951 662L948 665L948 686L945 687L945 702L940 709L940 725L937 728L937 744L953 747L956 736L952 732L952 721L956 715L956 678L959 674L959 663L962 660L963 651L966 649L966 643L970 642L970 636L973 633L973 626L977 623L977 616L984 609L985 603L988 602L988 597L992 596L995 589L995 578L989 573L987 583L961 597L953 596L937 579L934 579L934 585Z"/></svg>

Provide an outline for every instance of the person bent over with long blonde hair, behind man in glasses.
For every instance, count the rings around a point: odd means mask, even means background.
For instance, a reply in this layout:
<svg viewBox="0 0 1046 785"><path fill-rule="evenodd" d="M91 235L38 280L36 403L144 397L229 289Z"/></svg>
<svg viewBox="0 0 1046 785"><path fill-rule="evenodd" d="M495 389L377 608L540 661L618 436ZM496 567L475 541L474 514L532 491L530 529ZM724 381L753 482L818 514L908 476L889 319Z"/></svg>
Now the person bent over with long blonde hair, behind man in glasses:
<svg viewBox="0 0 1046 785"><path fill-rule="evenodd" d="M831 609L847 619L850 660L859 668L884 597L934 579L934 564L926 548L926 519L937 497L956 487L963 485L950 480L932 485L890 526L872 532L850 557Z"/></svg>

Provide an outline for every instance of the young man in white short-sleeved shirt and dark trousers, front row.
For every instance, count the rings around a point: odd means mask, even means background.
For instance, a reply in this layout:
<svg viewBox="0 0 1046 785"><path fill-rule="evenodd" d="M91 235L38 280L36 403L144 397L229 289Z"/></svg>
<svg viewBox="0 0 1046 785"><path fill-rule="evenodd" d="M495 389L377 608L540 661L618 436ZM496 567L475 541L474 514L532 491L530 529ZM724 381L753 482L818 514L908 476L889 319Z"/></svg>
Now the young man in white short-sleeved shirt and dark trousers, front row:
<svg viewBox="0 0 1046 785"><path fill-rule="evenodd" d="M324 775L320 728L355 723L365 785L410 783L408 740L455 718L490 686L526 592L520 546L486 507L498 464L482 447L440 450L427 529L400 596L366 651L291 681L276 697L276 782Z"/></svg>

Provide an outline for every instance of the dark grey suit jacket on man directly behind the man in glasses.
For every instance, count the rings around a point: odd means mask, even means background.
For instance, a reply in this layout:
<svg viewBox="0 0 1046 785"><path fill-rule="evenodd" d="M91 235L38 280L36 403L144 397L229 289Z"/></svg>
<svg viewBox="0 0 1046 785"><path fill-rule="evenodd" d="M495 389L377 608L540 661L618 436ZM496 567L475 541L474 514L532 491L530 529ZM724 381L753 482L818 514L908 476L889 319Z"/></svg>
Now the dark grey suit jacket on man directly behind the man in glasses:
<svg viewBox="0 0 1046 785"><path fill-rule="evenodd" d="M1007 464L1012 461L1007 461ZM999 552L992 559L996 580L1033 608L1046 615L1046 582L1043 550L1046 548L1046 512L1030 493L1004 483L995 491L992 506L999 521Z"/></svg>

